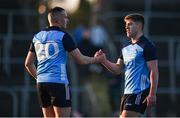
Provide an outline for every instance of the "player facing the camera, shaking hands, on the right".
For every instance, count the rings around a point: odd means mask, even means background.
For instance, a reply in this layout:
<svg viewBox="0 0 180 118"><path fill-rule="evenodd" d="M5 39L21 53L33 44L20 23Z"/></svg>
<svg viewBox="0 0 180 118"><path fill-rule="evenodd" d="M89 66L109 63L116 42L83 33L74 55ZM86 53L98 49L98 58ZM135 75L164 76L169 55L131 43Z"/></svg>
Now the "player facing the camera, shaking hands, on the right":
<svg viewBox="0 0 180 118"><path fill-rule="evenodd" d="M121 117L139 117L156 104L158 86L158 61L154 44L143 34L144 17L141 14L129 14L124 18L127 37L131 40L121 50L117 63L106 59L99 50L101 64L109 71L120 74L125 71L125 89L121 99Z"/></svg>

